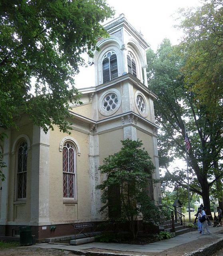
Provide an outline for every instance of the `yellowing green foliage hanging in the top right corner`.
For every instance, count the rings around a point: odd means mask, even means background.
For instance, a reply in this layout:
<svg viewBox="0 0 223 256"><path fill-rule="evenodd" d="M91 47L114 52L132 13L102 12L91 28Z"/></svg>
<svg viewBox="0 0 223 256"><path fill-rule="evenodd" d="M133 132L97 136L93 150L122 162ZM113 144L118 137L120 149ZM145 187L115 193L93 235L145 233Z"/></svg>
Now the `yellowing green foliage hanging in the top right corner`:
<svg viewBox="0 0 223 256"><path fill-rule="evenodd" d="M222 110L223 95L223 2L203 1L195 10L181 11L184 36L180 47L186 54L185 83L205 105L210 118ZM222 111L221 111L222 112Z"/></svg>

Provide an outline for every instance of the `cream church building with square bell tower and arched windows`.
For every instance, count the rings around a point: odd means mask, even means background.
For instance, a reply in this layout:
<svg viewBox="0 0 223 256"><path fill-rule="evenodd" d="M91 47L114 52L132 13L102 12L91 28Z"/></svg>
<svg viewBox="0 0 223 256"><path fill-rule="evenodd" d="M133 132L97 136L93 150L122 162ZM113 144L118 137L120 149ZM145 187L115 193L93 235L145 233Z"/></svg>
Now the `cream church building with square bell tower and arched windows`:
<svg viewBox="0 0 223 256"><path fill-rule="evenodd" d="M100 38L91 64L95 86L81 89L82 105L70 105L71 135L55 126L47 134L21 116L19 130L6 131L0 150L7 167L0 190L0 236L18 236L32 226L37 240L74 234L76 223L103 220L100 191L106 177L98 166L121 148L120 140L142 140L156 167L147 190L160 201L157 125L147 87L149 44L121 14L105 25L110 37Z"/></svg>

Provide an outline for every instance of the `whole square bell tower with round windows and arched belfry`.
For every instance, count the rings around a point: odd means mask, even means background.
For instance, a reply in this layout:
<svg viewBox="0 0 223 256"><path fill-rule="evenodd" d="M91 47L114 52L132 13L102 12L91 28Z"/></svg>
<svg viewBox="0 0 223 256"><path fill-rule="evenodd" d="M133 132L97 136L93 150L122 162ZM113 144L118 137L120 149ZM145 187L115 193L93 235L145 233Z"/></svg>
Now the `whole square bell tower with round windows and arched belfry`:
<svg viewBox="0 0 223 256"><path fill-rule="evenodd" d="M141 140L156 167L148 180L148 193L158 202L161 201L160 186L153 183L154 179L159 179L158 127L153 108L157 95L147 86L146 49L149 44L123 14L104 28L109 37L98 39L100 50L94 53L93 60L96 89L92 97L92 116L97 126L93 136L98 140L98 165L105 157L119 151L120 140ZM99 177L97 182L100 182Z"/></svg>

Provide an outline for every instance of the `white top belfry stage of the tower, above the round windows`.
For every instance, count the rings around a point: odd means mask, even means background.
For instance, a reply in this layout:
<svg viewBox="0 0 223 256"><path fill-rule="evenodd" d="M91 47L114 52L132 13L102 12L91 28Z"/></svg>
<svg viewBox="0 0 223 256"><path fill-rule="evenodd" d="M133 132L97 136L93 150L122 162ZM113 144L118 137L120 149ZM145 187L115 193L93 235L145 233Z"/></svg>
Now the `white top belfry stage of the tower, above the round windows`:
<svg viewBox="0 0 223 256"><path fill-rule="evenodd" d="M98 42L94 56L96 86L130 73L147 86L146 53L149 44L124 14L104 26L109 37Z"/></svg>

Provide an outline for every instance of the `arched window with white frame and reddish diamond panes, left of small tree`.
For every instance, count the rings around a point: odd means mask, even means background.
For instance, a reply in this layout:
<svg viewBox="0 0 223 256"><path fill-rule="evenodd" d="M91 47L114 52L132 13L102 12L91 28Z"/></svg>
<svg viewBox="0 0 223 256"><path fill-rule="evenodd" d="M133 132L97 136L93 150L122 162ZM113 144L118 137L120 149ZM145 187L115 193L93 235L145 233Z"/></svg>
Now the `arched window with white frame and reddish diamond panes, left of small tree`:
<svg viewBox="0 0 223 256"><path fill-rule="evenodd" d="M76 149L66 143L63 148L63 195L75 198Z"/></svg>

